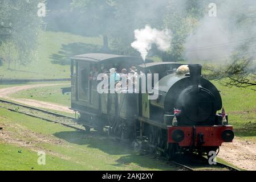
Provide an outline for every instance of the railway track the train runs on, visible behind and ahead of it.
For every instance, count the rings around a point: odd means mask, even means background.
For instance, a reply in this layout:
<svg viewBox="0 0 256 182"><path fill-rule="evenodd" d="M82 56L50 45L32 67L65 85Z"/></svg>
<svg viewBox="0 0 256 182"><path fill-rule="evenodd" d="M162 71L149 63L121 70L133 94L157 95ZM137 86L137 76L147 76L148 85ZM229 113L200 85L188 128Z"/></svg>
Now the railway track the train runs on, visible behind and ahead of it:
<svg viewBox="0 0 256 182"><path fill-rule="evenodd" d="M59 123L61 125L71 127L76 130L85 130L84 126L74 122L76 118L68 117L66 115L53 113L51 111L38 109L26 105L17 104L15 102L1 100L0 108L5 108L10 111L14 111L21 114L29 115L30 117L40 118L44 121ZM166 160L166 158L164 158ZM173 165L179 166L183 170L196 171L196 170L220 170L220 171L239 171L239 169L227 166L226 164L217 162L216 165L209 165L208 160L204 157L197 155L182 155L181 158L177 158L175 161L170 161Z"/></svg>

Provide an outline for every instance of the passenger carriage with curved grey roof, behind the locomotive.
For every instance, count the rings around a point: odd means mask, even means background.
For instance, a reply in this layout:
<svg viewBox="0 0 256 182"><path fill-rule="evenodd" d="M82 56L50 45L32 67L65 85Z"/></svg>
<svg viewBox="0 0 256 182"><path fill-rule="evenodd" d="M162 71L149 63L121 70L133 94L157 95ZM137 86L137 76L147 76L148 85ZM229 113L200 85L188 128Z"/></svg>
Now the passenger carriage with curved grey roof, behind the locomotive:
<svg viewBox="0 0 256 182"><path fill-rule="evenodd" d="M92 67L102 73L103 69L129 69L142 63L140 57L99 53L71 57L71 108L79 111L79 123L82 123L86 130L95 128L101 131L104 126L111 126L111 129L117 132L121 128L120 122L133 122L133 115L138 111L136 94L99 94L99 81L89 79Z"/></svg>

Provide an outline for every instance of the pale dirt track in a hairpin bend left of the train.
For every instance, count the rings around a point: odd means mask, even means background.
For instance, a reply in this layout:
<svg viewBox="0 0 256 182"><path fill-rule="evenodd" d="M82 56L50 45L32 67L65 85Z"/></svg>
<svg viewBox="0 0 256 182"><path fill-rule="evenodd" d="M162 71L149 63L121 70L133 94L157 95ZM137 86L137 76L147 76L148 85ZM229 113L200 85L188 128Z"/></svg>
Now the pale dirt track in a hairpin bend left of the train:
<svg viewBox="0 0 256 182"><path fill-rule="evenodd" d="M43 102L43 101L37 101L32 99L26 99L26 98L9 97L10 94L19 92L21 90L44 87L44 86L55 86L55 85L64 85L64 84L34 84L34 85L23 85L23 86L13 86L10 88L3 88L3 89L0 89L0 98L5 98L7 100L20 102L22 104L26 104L33 107L41 107L44 109L52 109L52 110L64 111L67 113L74 113L74 111L70 110L67 106L61 106L61 105L50 103L50 102Z"/></svg>

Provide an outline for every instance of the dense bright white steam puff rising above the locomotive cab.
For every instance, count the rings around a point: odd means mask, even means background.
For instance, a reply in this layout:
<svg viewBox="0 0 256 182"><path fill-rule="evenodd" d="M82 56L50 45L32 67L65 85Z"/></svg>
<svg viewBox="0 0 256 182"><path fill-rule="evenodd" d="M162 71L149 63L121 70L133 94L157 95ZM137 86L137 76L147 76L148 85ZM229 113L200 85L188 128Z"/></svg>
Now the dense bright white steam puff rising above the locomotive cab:
<svg viewBox="0 0 256 182"><path fill-rule="evenodd" d="M131 43L131 46L140 52L144 61L152 44L156 44L160 51L167 51L170 48L170 42L172 40L171 33L168 29L160 31L156 28L151 28L149 25L146 25L143 29L136 29L134 35L135 42Z"/></svg>

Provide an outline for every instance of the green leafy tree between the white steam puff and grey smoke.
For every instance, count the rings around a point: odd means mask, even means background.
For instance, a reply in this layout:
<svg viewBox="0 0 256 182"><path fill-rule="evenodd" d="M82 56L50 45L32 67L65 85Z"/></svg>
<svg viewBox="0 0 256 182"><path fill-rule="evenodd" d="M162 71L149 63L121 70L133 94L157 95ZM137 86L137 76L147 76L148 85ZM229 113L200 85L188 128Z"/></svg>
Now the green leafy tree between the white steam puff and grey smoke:
<svg viewBox="0 0 256 182"><path fill-rule="evenodd" d="M207 8L206 1L170 0L164 24L172 30L172 47L164 53L164 61L183 61L184 44L188 35L198 26Z"/></svg>

